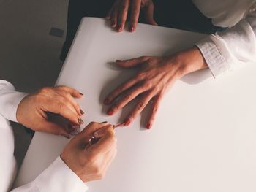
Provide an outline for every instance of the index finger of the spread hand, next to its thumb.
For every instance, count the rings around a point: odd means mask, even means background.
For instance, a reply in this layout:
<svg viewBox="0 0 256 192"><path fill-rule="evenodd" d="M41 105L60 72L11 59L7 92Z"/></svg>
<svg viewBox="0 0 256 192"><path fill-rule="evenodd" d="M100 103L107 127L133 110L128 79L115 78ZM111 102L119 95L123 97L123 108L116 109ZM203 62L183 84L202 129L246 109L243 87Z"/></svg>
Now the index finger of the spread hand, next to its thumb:
<svg viewBox="0 0 256 192"><path fill-rule="evenodd" d="M127 91L127 89L131 88L133 85L138 83L140 81L140 76L137 75L133 77L131 80L128 80L127 82L124 82L122 85L120 85L118 88L116 88L114 91L112 91L104 100L104 104L110 104L112 103L117 96L119 96L124 91Z"/></svg>

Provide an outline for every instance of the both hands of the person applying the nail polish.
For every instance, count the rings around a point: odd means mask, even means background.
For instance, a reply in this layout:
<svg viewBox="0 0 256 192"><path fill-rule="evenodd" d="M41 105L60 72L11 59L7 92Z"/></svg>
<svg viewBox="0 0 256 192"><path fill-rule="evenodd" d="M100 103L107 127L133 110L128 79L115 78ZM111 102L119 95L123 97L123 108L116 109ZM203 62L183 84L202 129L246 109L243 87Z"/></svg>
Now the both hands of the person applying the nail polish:
<svg viewBox="0 0 256 192"><path fill-rule="evenodd" d="M69 131L49 122L45 112L58 113L80 126L78 118L83 115L83 111L75 101L75 98L80 97L82 97L81 93L66 86L39 89L20 101L17 119L34 131L61 134L69 138L71 137ZM99 141L94 144L89 143L92 136ZM67 144L61 153L61 159L83 182L88 182L105 177L108 166L116 156L116 151L113 126L107 122L91 122Z"/></svg>

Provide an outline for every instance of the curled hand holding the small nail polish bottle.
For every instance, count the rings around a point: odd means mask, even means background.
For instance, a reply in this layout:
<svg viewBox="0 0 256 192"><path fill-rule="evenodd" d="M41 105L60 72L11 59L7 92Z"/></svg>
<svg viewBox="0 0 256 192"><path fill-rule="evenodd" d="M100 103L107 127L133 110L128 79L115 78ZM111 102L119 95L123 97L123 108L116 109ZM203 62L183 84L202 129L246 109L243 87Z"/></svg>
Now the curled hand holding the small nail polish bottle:
<svg viewBox="0 0 256 192"><path fill-rule="evenodd" d="M83 123L80 118L83 115L83 110L74 99L81 96L82 93L66 86L41 88L20 101L16 112L17 120L23 126L34 131L44 131L70 138L73 129ZM48 121L46 112L53 112L67 118L72 124L69 131Z"/></svg>

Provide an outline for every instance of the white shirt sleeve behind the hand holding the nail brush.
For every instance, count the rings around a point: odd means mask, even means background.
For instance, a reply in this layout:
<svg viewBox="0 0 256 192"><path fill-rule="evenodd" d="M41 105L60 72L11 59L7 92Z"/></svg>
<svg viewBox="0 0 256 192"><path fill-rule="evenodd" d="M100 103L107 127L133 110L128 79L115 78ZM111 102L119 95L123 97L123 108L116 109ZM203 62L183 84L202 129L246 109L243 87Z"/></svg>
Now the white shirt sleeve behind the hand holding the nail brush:
<svg viewBox="0 0 256 192"><path fill-rule="evenodd" d="M84 192L87 189L85 183L58 157L34 181L11 192Z"/></svg>

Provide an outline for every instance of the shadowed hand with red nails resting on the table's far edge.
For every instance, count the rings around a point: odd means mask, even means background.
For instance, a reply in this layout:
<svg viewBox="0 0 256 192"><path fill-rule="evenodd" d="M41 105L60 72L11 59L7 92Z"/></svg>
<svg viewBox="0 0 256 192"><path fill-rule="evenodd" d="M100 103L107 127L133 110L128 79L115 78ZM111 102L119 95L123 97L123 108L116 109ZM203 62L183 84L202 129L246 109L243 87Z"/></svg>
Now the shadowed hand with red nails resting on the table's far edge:
<svg viewBox="0 0 256 192"><path fill-rule="evenodd" d="M154 3L152 0L116 0L106 16L106 19L110 20L111 27L116 28L118 32L123 31L129 9L131 10L129 31L135 31L140 9L143 11L146 23L157 26L154 20Z"/></svg>

